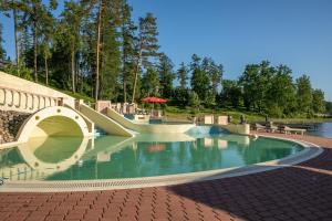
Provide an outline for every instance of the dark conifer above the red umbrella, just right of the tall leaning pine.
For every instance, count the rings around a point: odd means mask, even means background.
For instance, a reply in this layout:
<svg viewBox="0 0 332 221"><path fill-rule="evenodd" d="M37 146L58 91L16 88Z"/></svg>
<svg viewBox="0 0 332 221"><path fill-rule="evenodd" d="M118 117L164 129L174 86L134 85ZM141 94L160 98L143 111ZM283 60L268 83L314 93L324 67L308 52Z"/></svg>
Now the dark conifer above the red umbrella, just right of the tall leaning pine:
<svg viewBox="0 0 332 221"><path fill-rule="evenodd" d="M163 53L159 57L157 71L160 80L160 95L165 98L169 98L173 94L173 81L175 78L173 67L174 64L170 59Z"/></svg>

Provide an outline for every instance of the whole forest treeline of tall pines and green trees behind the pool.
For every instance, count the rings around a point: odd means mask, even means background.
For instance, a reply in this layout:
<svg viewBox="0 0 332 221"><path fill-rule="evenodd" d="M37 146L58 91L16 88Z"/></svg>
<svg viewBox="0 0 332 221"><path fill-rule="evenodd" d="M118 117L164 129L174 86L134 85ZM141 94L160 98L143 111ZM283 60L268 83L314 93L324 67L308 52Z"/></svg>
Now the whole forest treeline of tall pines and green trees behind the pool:
<svg viewBox="0 0 332 221"><path fill-rule="evenodd" d="M95 99L133 103L160 96L181 107L247 109L276 117L332 113L309 76L293 80L286 65L248 64L238 80L225 80L221 64L193 54L175 70L159 50L156 17L146 13L135 23L126 0L68 0L61 12L56 0L44 2L1 1L1 12L14 25L15 59L10 61L0 24L6 72Z"/></svg>

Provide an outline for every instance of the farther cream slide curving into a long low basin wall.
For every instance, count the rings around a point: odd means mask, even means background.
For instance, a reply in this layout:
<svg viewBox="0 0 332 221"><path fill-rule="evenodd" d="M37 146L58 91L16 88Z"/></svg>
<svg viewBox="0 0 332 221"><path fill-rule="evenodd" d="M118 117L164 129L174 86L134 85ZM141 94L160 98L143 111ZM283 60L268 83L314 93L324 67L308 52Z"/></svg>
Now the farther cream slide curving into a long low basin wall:
<svg viewBox="0 0 332 221"><path fill-rule="evenodd" d="M135 124L112 108L107 108L107 116L127 129L143 134L179 134L186 133L190 128L195 127L195 124Z"/></svg>

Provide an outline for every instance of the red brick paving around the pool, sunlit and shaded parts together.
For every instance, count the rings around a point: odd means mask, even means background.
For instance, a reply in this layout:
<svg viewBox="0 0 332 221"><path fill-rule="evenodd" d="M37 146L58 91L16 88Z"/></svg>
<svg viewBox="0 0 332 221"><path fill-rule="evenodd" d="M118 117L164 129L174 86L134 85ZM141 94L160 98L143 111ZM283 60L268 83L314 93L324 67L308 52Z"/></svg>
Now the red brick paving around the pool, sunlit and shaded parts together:
<svg viewBox="0 0 332 221"><path fill-rule="evenodd" d="M284 135L278 135L284 136ZM188 185L65 193L0 193L0 220L332 220L332 139L290 168Z"/></svg>

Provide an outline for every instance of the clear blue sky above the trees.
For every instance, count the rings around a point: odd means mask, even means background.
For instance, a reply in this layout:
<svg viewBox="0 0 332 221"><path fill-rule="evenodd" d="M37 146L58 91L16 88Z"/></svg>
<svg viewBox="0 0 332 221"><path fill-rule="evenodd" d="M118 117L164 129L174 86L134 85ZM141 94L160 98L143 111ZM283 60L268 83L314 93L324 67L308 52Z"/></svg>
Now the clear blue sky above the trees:
<svg viewBox="0 0 332 221"><path fill-rule="evenodd" d="M160 51L188 63L193 53L224 64L237 78L248 63L287 64L308 74L332 101L331 0L129 0L134 19L157 17ZM62 7L61 7L62 8ZM6 48L13 56L12 22L0 15Z"/></svg>

